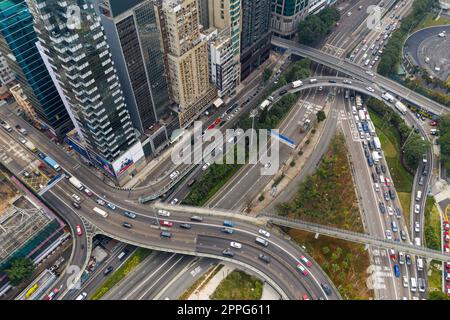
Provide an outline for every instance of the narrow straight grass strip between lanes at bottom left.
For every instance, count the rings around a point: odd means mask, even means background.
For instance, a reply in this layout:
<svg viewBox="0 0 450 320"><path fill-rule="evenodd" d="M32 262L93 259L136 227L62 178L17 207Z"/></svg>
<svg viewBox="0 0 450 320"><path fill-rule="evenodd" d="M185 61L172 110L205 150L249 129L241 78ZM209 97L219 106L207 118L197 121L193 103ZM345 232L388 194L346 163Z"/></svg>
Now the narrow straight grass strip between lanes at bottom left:
<svg viewBox="0 0 450 320"><path fill-rule="evenodd" d="M94 293L90 300L99 300L101 297L103 297L120 280L125 278L125 276L131 272L131 270L136 268L139 263L147 258L150 253L151 250L148 249L136 249L131 257L103 283L103 285Z"/></svg>

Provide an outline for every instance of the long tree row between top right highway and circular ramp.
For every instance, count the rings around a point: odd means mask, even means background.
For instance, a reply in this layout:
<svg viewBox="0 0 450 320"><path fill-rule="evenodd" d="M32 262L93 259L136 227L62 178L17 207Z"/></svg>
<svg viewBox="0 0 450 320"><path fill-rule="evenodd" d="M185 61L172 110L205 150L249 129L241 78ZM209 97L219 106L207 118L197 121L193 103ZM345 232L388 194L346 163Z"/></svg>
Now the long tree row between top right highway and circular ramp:
<svg viewBox="0 0 450 320"><path fill-rule="evenodd" d="M422 18L431 11L436 0L415 0L412 12L402 20L400 28L393 34L386 45L378 65L378 73L383 76L395 76L402 59L403 43Z"/></svg>

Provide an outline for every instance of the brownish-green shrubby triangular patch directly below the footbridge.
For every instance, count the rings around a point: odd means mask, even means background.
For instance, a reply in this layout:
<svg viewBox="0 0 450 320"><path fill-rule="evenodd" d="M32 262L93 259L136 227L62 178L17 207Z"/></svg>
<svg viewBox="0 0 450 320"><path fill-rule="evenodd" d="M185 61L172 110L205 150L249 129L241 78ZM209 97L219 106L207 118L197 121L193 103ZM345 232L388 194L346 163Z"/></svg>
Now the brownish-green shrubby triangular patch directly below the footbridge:
<svg viewBox="0 0 450 320"><path fill-rule="evenodd" d="M290 229L289 235L306 247L343 299L367 300L374 296L373 290L366 285L370 259L363 245L322 235L314 239L314 234L295 229Z"/></svg>

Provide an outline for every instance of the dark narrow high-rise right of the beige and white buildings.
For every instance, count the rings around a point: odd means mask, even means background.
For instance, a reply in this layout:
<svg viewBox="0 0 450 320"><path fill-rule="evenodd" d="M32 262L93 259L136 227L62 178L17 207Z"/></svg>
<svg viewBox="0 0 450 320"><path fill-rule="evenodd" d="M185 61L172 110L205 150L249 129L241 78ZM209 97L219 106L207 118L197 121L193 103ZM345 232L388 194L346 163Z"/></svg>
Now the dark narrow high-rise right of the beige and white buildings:
<svg viewBox="0 0 450 320"><path fill-rule="evenodd" d="M241 0L241 80L270 55L270 0Z"/></svg>

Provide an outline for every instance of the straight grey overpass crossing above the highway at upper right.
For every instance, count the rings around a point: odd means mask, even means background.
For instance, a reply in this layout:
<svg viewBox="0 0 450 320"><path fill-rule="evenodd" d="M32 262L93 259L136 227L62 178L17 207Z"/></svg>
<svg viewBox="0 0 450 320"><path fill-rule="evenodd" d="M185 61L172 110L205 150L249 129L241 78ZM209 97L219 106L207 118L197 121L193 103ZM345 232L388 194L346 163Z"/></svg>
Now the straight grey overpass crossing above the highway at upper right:
<svg viewBox="0 0 450 320"><path fill-rule="evenodd" d="M395 95L403 98L408 103L427 110L432 114L442 115L444 112L449 111L449 109L445 106L431 99L428 99L423 95L416 93L391 79L383 77L379 74L374 74L374 76L371 76L367 73L366 69L348 60L343 60L341 58L337 58L335 56L327 54L321 50L301 45L295 41L286 40L279 37L272 37L272 45L284 49L289 49L291 50L292 54L309 58L319 64L323 64L327 67L335 69L361 81L373 83L377 85L381 90L392 92Z"/></svg>

